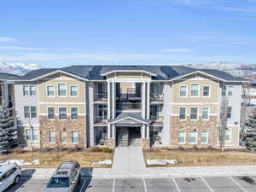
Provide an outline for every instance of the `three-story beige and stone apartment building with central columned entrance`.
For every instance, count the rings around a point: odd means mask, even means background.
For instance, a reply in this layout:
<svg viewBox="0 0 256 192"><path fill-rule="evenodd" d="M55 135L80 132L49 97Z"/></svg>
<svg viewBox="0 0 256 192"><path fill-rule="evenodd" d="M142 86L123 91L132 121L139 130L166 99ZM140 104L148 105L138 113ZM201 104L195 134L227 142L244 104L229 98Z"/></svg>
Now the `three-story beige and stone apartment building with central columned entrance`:
<svg viewBox="0 0 256 192"><path fill-rule="evenodd" d="M244 79L183 66L72 66L11 79L20 145L38 148L239 146Z"/></svg>

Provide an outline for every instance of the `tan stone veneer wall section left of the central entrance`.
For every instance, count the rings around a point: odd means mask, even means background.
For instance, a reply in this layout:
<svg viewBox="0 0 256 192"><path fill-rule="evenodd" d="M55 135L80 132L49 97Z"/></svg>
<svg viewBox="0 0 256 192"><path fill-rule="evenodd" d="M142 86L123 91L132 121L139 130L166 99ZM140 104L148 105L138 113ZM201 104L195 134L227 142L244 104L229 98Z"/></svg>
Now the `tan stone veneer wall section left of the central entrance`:
<svg viewBox="0 0 256 192"><path fill-rule="evenodd" d="M55 148L57 145L61 148L86 148L86 122L84 116L72 120L67 116L67 120L49 120L47 116L40 116L40 140L41 148ZM49 143L49 131L55 131L55 143ZM67 131L68 143L61 143L61 131ZM79 131L79 143L72 143L72 131Z"/></svg>

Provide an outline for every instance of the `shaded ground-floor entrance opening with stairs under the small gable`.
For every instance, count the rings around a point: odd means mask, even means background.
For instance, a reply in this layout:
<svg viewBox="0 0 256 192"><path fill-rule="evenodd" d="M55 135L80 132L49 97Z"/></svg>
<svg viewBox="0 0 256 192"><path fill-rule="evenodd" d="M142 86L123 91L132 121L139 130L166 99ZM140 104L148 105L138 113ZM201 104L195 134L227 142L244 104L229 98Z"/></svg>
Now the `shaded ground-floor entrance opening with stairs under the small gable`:
<svg viewBox="0 0 256 192"><path fill-rule="evenodd" d="M116 127L117 146L140 146L141 127L118 126Z"/></svg>

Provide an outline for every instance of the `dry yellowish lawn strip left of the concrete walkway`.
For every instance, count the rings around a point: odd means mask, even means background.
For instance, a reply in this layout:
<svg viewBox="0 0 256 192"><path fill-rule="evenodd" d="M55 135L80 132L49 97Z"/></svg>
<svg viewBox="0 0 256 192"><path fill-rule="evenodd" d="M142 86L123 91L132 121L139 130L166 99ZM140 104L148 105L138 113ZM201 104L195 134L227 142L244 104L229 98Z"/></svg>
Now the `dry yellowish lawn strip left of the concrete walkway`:
<svg viewBox="0 0 256 192"><path fill-rule="evenodd" d="M26 160L31 162L34 159L40 160L39 165L22 166L29 168L55 168L61 164L62 161L77 160L82 167L111 167L111 165L95 165L94 162L101 160L113 160L113 153L106 152L91 152L91 151L79 151L79 152L59 152L57 157L56 152L26 152L22 154L1 154L0 160Z"/></svg>

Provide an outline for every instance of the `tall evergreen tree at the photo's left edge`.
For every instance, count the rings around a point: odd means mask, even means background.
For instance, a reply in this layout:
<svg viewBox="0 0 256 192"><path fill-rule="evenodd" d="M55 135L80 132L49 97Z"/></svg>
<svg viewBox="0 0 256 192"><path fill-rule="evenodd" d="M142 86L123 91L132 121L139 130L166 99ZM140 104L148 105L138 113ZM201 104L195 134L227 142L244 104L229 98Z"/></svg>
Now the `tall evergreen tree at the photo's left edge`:
<svg viewBox="0 0 256 192"><path fill-rule="evenodd" d="M0 108L0 153L8 153L17 146L17 129L15 119L9 116L9 108Z"/></svg>

